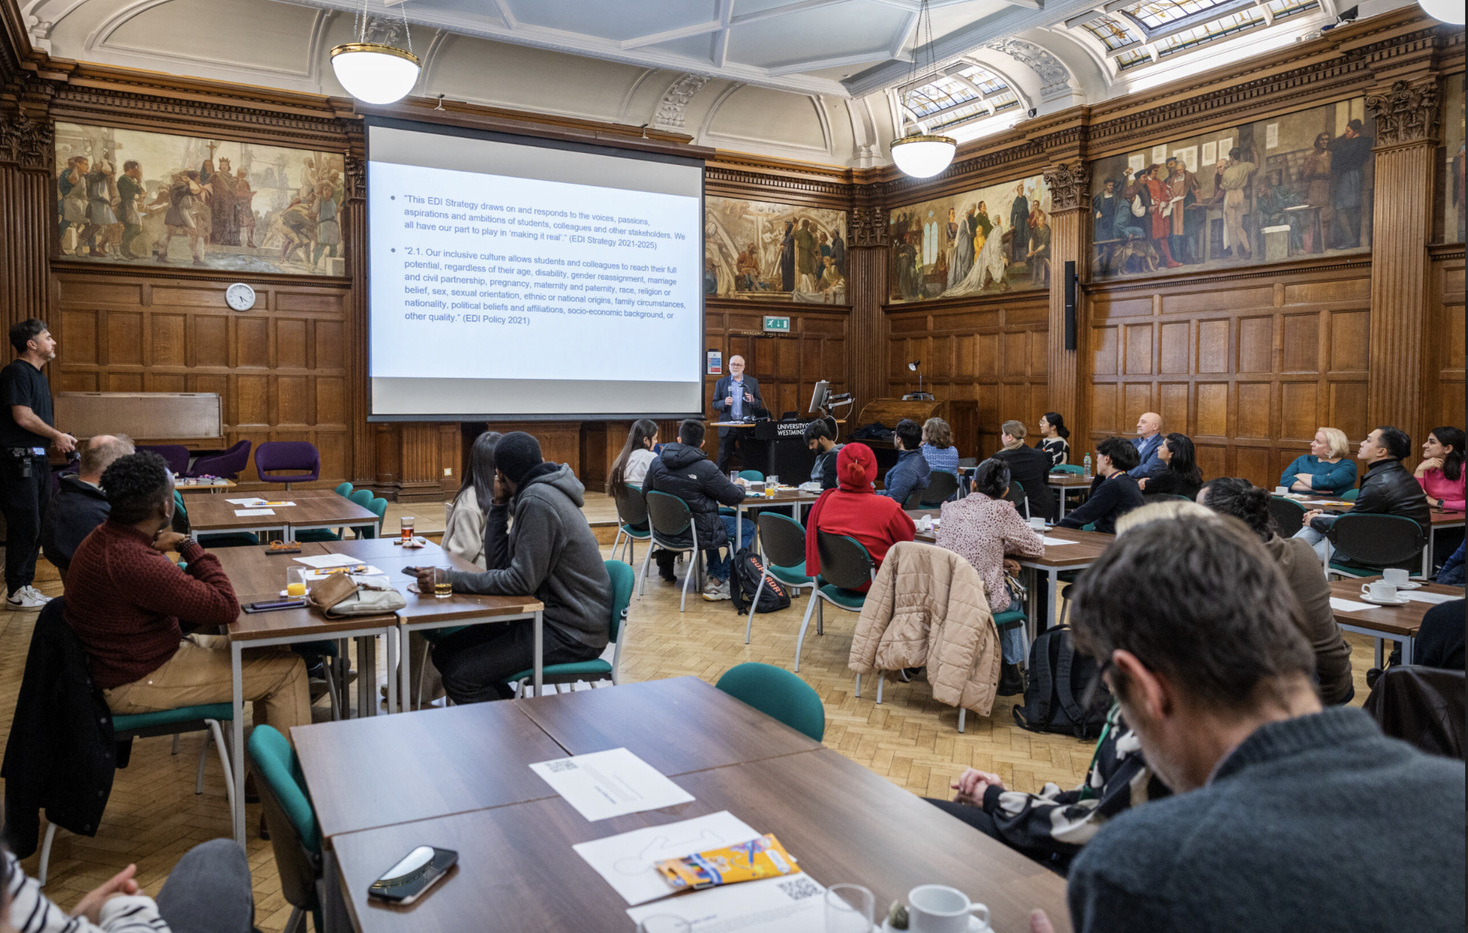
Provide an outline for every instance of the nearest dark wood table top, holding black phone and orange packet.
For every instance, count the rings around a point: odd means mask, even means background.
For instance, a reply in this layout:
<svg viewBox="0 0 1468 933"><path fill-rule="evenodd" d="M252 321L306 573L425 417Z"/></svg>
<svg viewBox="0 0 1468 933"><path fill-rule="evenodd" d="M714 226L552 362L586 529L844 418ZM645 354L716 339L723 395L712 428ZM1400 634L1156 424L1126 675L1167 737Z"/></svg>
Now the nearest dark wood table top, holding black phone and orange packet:
<svg viewBox="0 0 1468 933"><path fill-rule="evenodd" d="M1057 930L1070 929L1064 879L837 751L765 758L674 780L696 799L597 823L553 796L335 836L357 929L625 933L633 927L627 904L571 846L721 810L775 833L822 885L854 882L872 889L878 912L916 885L942 883L988 904L997 930L1028 929L1035 907L1050 914ZM368 902L367 886L418 845L455 849L458 865L407 908Z"/></svg>

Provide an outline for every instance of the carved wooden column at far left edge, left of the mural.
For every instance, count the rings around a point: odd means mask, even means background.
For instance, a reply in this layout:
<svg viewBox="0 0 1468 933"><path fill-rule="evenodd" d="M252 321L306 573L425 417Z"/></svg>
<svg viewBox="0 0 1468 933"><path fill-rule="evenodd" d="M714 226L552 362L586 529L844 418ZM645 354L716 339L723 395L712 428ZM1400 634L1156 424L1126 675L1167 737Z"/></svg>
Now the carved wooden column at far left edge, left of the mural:
<svg viewBox="0 0 1468 933"><path fill-rule="evenodd" d="M0 113L0 309L4 325L47 316L56 235L51 122L23 109ZM63 348L65 351L65 348Z"/></svg>

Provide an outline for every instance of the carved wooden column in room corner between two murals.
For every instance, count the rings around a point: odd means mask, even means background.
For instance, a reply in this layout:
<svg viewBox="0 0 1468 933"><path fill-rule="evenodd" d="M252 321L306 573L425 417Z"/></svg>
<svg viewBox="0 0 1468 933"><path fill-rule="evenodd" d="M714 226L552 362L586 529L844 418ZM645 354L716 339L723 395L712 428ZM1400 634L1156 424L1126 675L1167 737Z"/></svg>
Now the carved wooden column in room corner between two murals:
<svg viewBox="0 0 1468 933"><path fill-rule="evenodd" d="M847 253L851 288L851 323L847 335L849 391L853 404L847 408L847 431L859 428L850 422L862 406L887 395L887 212L878 206L857 206L851 210L851 245Z"/></svg>

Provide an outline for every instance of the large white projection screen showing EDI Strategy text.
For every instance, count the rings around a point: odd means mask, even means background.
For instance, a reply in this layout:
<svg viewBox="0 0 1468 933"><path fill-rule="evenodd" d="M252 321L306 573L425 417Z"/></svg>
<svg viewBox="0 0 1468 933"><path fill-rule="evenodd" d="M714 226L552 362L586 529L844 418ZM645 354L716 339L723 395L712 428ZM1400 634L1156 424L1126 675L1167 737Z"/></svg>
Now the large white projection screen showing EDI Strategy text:
<svg viewBox="0 0 1468 933"><path fill-rule="evenodd" d="M703 410L703 163L371 118L368 420Z"/></svg>

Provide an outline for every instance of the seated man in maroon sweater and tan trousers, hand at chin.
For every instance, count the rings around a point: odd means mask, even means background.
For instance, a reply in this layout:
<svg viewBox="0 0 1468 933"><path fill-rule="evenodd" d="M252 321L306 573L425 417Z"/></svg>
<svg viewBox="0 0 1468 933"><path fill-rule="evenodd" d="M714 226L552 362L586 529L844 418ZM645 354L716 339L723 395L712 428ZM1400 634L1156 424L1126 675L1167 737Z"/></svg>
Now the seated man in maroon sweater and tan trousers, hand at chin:
<svg viewBox="0 0 1468 933"><path fill-rule="evenodd" d="M72 557L66 623L87 651L92 680L113 713L157 713L230 701L229 642L185 635L239 617L219 558L169 530L173 480L154 453L119 457L101 475L112 511ZM166 554L178 551L188 570ZM182 620L182 622L181 622ZM311 721L310 686L299 655L244 652L245 699L254 723L286 736Z"/></svg>

